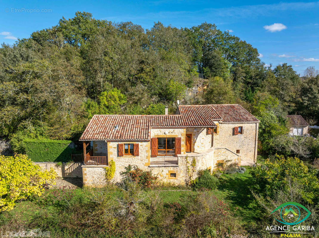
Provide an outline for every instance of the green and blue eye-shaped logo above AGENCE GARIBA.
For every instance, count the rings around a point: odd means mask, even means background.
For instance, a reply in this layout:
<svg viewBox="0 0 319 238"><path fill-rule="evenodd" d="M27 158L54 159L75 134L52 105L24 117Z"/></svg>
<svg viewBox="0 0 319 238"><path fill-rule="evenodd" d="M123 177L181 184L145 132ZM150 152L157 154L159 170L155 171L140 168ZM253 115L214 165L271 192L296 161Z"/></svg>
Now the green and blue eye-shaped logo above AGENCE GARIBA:
<svg viewBox="0 0 319 238"><path fill-rule="evenodd" d="M300 210L300 208L302 209ZM283 203L271 213L275 213L276 211L280 212L280 218L282 221L279 221L277 219L276 220L285 225L297 225L305 221L311 214L311 212L306 207L297 202ZM304 218L301 219L301 217L303 216Z"/></svg>

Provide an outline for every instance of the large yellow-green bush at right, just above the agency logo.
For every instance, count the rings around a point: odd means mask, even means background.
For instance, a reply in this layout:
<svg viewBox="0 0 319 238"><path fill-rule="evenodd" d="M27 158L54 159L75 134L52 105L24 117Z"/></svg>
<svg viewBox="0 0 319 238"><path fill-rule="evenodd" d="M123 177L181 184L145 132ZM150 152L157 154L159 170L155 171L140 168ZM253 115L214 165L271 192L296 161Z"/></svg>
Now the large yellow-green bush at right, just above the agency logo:
<svg viewBox="0 0 319 238"><path fill-rule="evenodd" d="M319 196L319 182L314 171L297 157L284 157L276 155L277 160L269 159L264 165L257 165L250 174L252 175L254 190L263 197L274 197L276 191L282 190L289 194L291 183L298 184L301 198L313 203Z"/></svg>

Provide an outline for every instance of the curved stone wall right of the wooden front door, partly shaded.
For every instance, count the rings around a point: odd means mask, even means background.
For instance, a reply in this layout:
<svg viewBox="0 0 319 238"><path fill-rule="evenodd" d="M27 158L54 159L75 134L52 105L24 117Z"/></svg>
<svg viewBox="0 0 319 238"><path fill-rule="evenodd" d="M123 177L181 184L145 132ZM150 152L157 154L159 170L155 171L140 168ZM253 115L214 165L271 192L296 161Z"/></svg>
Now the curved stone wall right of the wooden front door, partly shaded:
<svg viewBox="0 0 319 238"><path fill-rule="evenodd" d="M186 134L192 134L192 151L201 153L211 148L211 134L206 128L186 128Z"/></svg>

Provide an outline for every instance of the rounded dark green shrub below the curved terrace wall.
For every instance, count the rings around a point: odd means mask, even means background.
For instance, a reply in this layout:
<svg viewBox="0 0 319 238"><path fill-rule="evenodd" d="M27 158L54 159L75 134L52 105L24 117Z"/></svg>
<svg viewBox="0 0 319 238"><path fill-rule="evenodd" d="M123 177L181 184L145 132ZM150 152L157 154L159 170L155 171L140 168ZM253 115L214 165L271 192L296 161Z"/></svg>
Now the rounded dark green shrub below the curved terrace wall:
<svg viewBox="0 0 319 238"><path fill-rule="evenodd" d="M192 181L193 189L207 188L214 190L219 185L219 180L214 175L211 175L209 170L198 171L198 177Z"/></svg>

